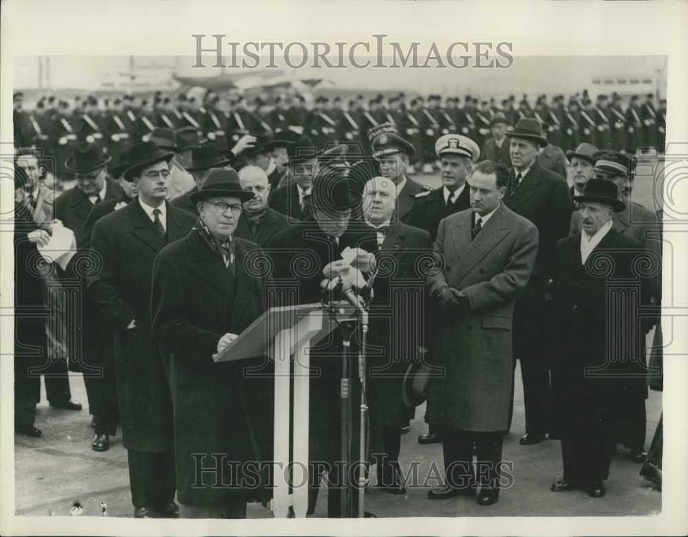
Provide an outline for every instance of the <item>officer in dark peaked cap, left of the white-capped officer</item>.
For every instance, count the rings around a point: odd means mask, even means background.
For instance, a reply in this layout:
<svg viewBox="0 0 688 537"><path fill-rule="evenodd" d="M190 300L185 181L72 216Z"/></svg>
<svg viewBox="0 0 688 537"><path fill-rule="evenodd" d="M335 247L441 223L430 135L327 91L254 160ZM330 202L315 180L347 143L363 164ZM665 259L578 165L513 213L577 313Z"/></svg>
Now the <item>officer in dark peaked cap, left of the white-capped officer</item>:
<svg viewBox="0 0 688 537"><path fill-rule="evenodd" d="M380 175L396 185L395 219L410 223L416 195L424 190L432 190L406 176L409 157L415 151L413 145L400 135L388 132L373 140L372 149L373 158L380 164Z"/></svg>

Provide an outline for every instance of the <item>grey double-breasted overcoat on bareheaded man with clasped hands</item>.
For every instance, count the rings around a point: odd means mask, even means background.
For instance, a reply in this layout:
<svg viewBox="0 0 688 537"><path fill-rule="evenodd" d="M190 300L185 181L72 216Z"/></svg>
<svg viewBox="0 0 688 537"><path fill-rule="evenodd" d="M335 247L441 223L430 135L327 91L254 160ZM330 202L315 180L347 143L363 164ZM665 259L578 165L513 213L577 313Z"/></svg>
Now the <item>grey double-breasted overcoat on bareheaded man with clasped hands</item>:
<svg viewBox="0 0 688 537"><path fill-rule="evenodd" d="M449 285L465 292L470 307L435 316L433 360L444 373L430 380L428 421L494 432L508 424L513 310L533 272L538 232L502 204L471 241L473 214L443 219L434 245L441 262L428 280L431 296Z"/></svg>

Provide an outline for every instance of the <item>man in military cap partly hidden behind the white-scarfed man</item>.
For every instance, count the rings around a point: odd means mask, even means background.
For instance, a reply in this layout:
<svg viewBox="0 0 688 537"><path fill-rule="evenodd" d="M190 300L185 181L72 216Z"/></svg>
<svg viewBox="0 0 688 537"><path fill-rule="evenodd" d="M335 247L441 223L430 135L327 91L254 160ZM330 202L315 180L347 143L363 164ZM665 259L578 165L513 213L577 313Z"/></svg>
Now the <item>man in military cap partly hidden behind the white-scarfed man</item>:
<svg viewBox="0 0 688 537"><path fill-rule="evenodd" d="M608 179L616 184L619 200L624 208L612 214L612 225L616 232L637 241L651 256L652 265L659 268L662 259L662 223L655 212L643 207L630 199L633 185L632 157L618 151L599 151L594 154L594 176L596 179ZM581 232L583 213L578 210L571 217L571 234ZM657 270L650 278L651 299L654 305L662 301L662 276ZM657 327L660 330L660 326ZM635 379L627 379L624 384L624 394L627 397L623 413L619 415L619 441L630 450L629 457L634 462L645 459L645 399L647 388L643 379L645 371L645 346L643 346L643 362L638 364Z"/></svg>

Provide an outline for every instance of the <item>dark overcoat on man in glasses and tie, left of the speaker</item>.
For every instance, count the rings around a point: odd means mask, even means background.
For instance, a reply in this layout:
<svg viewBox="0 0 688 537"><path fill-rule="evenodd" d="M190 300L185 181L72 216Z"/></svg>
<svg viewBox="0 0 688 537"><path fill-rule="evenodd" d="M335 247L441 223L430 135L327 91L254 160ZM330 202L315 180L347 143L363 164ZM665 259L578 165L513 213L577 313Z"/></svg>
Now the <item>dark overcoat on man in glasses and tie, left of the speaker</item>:
<svg viewBox="0 0 688 537"><path fill-rule="evenodd" d="M184 237L194 223L193 215L167 202L163 236L134 199L93 229L90 247L102 267L89 276L88 292L99 318L114 330L122 443L129 450L173 448L167 362L151 332L151 273L155 255ZM136 326L128 328L132 320Z"/></svg>

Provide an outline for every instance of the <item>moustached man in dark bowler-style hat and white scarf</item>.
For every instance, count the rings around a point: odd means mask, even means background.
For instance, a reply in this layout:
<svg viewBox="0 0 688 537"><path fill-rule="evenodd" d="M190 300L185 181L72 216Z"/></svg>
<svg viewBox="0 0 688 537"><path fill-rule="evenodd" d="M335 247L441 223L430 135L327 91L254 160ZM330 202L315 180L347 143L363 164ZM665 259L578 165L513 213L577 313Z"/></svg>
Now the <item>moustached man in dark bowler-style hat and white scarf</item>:
<svg viewBox="0 0 688 537"><path fill-rule="evenodd" d="M652 324L638 311L649 304L649 271L634 270L646 259L643 246L614 230L612 215L625 203L613 182L590 179L574 200L581 206L582 232L557 241L553 274L552 376L563 479L551 490L581 487L599 498L616 445L614 421L628 410L625 386L642 361L634 342L644 341ZM617 294L634 299L621 306Z"/></svg>

